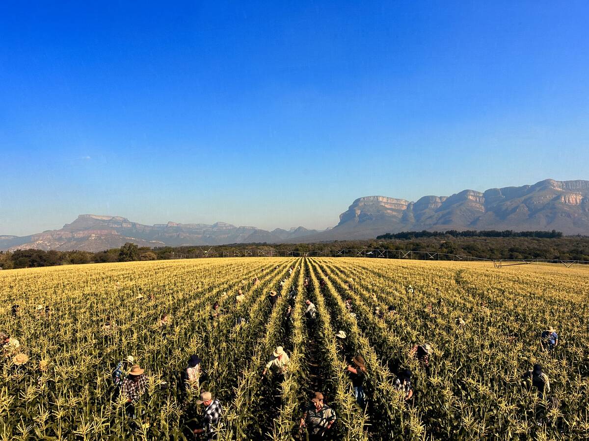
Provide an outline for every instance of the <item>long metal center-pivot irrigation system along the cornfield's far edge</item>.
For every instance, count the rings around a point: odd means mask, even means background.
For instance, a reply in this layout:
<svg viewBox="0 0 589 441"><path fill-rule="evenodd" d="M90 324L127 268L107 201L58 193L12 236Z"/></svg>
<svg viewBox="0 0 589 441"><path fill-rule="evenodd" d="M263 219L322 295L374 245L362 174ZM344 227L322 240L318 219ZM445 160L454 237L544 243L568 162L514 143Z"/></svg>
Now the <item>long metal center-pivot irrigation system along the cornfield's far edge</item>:
<svg viewBox="0 0 589 441"><path fill-rule="evenodd" d="M241 248L231 251L215 251L213 247L208 250L199 248L201 252L172 253L178 259L197 259L213 257L354 257L354 258L376 258L376 259L411 259L411 260L454 260L462 262L492 262L494 268L501 269L504 266L514 265L541 265L555 263L564 265L566 268L589 269L588 260L561 260L561 259L487 259L473 256L464 256L451 253L438 253L429 251L413 250L383 250L383 249L324 249L316 251L282 250L270 247L264 248Z"/></svg>

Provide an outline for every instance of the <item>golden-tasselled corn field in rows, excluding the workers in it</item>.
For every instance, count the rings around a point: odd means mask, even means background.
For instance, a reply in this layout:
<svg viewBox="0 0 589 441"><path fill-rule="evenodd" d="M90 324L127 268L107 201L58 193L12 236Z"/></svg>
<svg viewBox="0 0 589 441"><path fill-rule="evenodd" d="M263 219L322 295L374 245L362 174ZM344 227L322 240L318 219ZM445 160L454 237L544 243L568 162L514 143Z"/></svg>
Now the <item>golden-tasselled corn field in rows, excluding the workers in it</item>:
<svg viewBox="0 0 589 441"><path fill-rule="evenodd" d="M223 405L223 441L306 439L299 420L316 390L337 413L326 439L587 439L588 275L550 265L354 258L4 270L0 331L28 359L2 353L0 439L195 439L186 423L202 409L180 377L191 354L207 372L201 390ZM274 306L270 290L280 293ZM306 299L317 309L313 326ZM211 319L214 302L221 312ZM161 327L164 313L170 323ZM551 352L540 345L549 326L559 338ZM410 355L424 342L428 366ZM289 354L289 369L262 378L276 346ZM129 355L149 379L134 423L124 400L111 399L111 373ZM366 408L346 374L353 355L366 360ZM550 378L550 400L522 385L535 363ZM400 369L412 372L411 402L395 388Z"/></svg>

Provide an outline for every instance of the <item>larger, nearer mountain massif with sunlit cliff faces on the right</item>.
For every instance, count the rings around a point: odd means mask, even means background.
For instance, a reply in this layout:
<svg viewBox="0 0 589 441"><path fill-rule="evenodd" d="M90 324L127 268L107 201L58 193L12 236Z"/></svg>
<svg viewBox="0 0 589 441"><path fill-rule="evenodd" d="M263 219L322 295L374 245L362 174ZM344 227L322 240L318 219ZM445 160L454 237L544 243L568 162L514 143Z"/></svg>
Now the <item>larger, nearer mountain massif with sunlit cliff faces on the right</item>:
<svg viewBox="0 0 589 441"><path fill-rule="evenodd" d="M464 190L417 202L368 196L356 199L329 232L302 240L369 239L388 232L448 229L551 230L589 234L589 181Z"/></svg>

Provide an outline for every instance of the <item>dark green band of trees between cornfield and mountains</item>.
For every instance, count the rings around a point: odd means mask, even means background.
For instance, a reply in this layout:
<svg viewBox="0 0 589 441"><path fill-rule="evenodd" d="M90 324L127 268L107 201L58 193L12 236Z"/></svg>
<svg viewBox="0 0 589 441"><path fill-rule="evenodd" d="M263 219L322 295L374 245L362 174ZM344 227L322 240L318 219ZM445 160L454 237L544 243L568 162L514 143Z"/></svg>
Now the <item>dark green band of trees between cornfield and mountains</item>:
<svg viewBox="0 0 589 441"><path fill-rule="evenodd" d="M487 234L469 235L460 232L459 235L448 232L422 234L417 232L396 233L395 237L383 235L372 240L335 240L321 243L240 243L232 245L207 246L164 246L159 248L144 248L134 243L125 243L121 248L113 248L100 252L88 251L56 251L56 250L16 250L14 252L0 252L0 268L36 268L54 265L75 265L80 263L112 263L133 262L139 260L166 260L178 258L201 258L207 256L246 256L246 250L252 256L263 251L269 255L294 251L299 253L320 252L326 256L337 256L337 250L342 249L375 249L375 250L413 250L430 253L446 253L454 255L472 256L484 259L562 259L589 261L588 236L562 236L558 232L518 232L513 236L497 236ZM430 234L431 233L431 234ZM523 233L529 233L523 235ZM545 233L542 236L539 233ZM351 254L348 253L348 256ZM395 256L395 253L389 253ZM376 256L376 255L373 255ZM441 259L448 257L440 256Z"/></svg>

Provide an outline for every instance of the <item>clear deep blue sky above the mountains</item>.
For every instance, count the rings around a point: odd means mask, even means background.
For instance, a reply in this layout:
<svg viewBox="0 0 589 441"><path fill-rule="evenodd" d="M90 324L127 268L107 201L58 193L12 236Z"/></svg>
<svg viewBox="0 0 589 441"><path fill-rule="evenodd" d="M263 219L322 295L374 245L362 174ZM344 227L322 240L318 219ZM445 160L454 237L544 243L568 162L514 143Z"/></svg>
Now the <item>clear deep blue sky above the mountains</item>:
<svg viewBox="0 0 589 441"><path fill-rule="evenodd" d="M589 179L588 22L587 1L1 2L0 234L325 228L360 196Z"/></svg>

